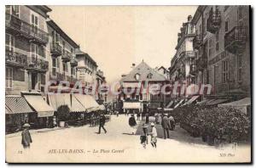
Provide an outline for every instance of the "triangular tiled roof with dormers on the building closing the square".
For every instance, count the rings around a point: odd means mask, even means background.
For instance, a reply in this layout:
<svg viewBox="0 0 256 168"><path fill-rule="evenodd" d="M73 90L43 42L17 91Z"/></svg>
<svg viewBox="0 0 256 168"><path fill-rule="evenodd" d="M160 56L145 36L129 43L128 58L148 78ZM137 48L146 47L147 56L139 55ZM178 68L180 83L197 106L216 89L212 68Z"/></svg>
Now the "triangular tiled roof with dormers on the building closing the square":
<svg viewBox="0 0 256 168"><path fill-rule="evenodd" d="M135 75L139 74L140 78L138 81L166 81L166 77L162 76L156 70L152 69L144 61L141 64L138 64L131 72L121 78L120 81L137 81ZM148 74L152 74L151 79L148 78Z"/></svg>

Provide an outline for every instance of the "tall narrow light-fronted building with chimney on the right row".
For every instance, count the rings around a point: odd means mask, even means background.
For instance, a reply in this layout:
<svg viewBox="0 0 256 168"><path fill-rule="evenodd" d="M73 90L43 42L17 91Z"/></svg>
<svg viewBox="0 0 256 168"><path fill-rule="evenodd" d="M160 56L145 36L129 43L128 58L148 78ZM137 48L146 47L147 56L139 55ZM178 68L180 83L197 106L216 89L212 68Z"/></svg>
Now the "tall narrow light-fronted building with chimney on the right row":
<svg viewBox="0 0 256 168"><path fill-rule="evenodd" d="M195 52L193 50L193 39L195 37L195 25L191 23L192 16L183 23L180 33L177 34L176 54L171 60L170 80L179 81L186 85L195 83Z"/></svg>

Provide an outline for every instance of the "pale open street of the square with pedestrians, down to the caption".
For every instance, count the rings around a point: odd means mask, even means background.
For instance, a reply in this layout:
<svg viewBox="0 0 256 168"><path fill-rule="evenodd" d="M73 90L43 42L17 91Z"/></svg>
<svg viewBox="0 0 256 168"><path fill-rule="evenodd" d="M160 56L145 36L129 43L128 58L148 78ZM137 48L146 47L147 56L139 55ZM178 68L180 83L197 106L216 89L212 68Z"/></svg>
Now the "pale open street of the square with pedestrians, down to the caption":
<svg viewBox="0 0 256 168"><path fill-rule="evenodd" d="M230 145L224 149L208 146L201 138L190 137L182 128L171 132L170 139L157 139L152 148L140 144L138 130L128 125L128 116L112 115L105 128L97 134L98 126L70 127L52 132L33 132L32 146L24 150L21 137L6 137L6 161L12 162L246 162L250 146ZM142 122L142 121L138 121ZM160 126L157 126L158 132ZM132 135L132 132L137 132ZM21 133L21 132L19 132ZM65 160L63 160L65 158Z"/></svg>

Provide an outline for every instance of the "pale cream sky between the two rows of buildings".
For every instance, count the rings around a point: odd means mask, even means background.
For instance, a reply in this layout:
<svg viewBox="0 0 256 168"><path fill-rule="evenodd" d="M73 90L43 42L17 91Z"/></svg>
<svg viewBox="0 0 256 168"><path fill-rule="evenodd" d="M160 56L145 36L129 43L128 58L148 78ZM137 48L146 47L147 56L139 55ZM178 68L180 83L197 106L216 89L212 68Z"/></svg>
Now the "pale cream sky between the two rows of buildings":
<svg viewBox="0 0 256 168"><path fill-rule="evenodd" d="M103 70L119 81L131 64L170 67L177 33L196 6L49 6L49 16Z"/></svg>

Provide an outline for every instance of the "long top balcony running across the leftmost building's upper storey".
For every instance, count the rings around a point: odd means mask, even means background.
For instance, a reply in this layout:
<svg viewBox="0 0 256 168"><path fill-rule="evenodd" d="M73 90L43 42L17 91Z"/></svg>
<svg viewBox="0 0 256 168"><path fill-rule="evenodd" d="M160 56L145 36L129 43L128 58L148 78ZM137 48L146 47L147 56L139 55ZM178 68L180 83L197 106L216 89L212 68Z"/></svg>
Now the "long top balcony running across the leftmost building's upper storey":
<svg viewBox="0 0 256 168"><path fill-rule="evenodd" d="M30 40L30 42L46 45L49 41L47 32L44 32L38 29L38 27L20 20L13 14L5 14L5 25L6 31L10 31L17 36L24 36Z"/></svg>

